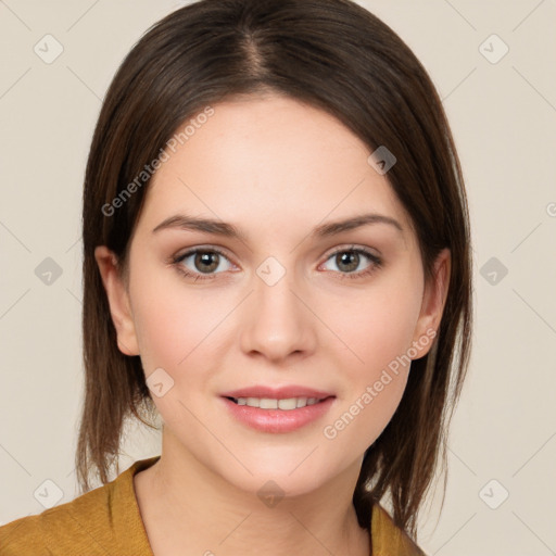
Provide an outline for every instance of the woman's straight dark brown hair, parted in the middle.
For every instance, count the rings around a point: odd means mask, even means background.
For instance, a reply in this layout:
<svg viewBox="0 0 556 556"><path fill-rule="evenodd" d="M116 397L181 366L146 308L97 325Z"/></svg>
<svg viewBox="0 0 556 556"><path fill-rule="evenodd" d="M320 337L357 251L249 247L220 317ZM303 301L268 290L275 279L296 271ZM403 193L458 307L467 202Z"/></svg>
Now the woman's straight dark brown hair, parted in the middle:
<svg viewBox="0 0 556 556"><path fill-rule="evenodd" d="M353 495L362 527L369 527L374 502L387 495L394 522L415 538L439 457L446 466L447 425L469 359L467 201L450 127L425 68L390 27L350 0L201 0L153 25L117 71L94 130L83 198L81 490L90 489L92 467L109 481L125 419L149 425L143 419L155 415L140 357L117 348L94 248L111 249L125 273L148 176L132 194L126 187L138 184L186 118L231 94L264 91L327 111L371 150L386 146L397 160L388 179L415 227L426 279L439 252L451 251L432 349L412 363L403 399L366 451ZM123 200L117 210L116 198Z"/></svg>

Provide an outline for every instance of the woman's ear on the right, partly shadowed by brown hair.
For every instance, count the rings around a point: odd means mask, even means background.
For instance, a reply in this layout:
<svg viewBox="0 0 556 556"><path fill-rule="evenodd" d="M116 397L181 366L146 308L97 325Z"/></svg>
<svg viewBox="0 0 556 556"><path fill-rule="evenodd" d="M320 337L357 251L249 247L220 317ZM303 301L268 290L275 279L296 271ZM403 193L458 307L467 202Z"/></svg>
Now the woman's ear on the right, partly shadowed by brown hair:
<svg viewBox="0 0 556 556"><path fill-rule="evenodd" d="M432 346L432 339L438 333L446 303L451 267L451 254L446 248L439 253L432 268L432 277L425 283L421 311L413 337L412 351L416 351L417 354L412 359L424 357Z"/></svg>

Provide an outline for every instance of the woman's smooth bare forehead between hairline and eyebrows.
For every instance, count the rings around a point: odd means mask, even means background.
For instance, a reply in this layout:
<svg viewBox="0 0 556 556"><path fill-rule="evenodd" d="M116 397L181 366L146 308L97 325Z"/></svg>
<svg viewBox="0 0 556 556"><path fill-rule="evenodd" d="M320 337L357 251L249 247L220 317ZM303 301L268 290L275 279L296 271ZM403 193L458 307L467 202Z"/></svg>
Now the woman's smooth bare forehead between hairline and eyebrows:
<svg viewBox="0 0 556 556"><path fill-rule="evenodd" d="M210 117L188 118L178 132L191 119L193 132L166 149L143 207L151 229L179 212L279 233L363 212L408 227L387 177L367 162L370 150L330 114L275 94L212 109Z"/></svg>

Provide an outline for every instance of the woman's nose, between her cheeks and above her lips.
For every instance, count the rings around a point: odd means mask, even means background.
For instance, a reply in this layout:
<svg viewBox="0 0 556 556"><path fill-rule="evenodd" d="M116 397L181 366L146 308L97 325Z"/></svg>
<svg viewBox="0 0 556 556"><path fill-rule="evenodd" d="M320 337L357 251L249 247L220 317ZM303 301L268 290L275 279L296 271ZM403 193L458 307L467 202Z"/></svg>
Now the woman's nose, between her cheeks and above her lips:
<svg viewBox="0 0 556 556"><path fill-rule="evenodd" d="M293 273L286 271L275 283L261 276L253 276L254 291L242 315L243 353L258 354L274 364L309 355L317 345L318 319L309 308L311 302L303 299L306 295L290 278Z"/></svg>

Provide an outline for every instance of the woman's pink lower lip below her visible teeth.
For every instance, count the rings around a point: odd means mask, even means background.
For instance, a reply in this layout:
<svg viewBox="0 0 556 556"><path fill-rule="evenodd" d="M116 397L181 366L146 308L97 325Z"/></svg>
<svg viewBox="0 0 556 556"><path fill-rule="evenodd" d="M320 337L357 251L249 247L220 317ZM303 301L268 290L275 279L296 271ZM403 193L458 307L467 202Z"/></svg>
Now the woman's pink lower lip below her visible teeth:
<svg viewBox="0 0 556 556"><path fill-rule="evenodd" d="M296 409L261 409L237 403L223 397L228 410L236 419L262 432L292 432L323 417L336 397L327 397L323 402Z"/></svg>

